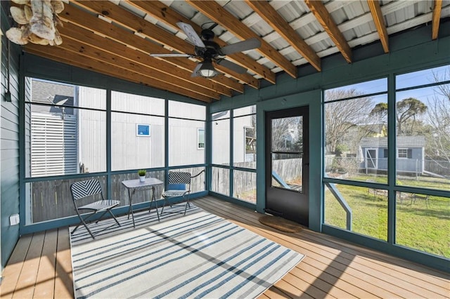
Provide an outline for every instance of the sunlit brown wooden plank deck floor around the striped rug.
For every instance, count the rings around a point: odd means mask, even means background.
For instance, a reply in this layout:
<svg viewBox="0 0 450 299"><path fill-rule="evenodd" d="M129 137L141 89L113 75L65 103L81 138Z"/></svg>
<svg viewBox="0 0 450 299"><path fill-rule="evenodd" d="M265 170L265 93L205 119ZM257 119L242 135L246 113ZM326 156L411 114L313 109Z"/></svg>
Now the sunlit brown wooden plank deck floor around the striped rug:
<svg viewBox="0 0 450 299"><path fill-rule="evenodd" d="M203 197L195 205L306 257L260 298L450 298L450 274L304 229L284 233L260 214ZM20 238L4 270L1 298L72 298L68 228Z"/></svg>

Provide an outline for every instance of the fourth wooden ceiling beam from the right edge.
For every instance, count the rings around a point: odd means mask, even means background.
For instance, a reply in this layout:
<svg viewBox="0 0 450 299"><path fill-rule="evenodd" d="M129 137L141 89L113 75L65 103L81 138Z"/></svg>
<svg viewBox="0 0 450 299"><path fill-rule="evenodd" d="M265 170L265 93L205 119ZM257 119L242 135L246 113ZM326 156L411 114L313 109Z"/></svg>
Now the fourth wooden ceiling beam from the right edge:
<svg viewBox="0 0 450 299"><path fill-rule="evenodd" d="M267 1L246 0L248 6L253 9L264 21L266 21L283 39L295 48L311 65L321 71L321 58L316 52L290 27L289 23L281 17Z"/></svg>

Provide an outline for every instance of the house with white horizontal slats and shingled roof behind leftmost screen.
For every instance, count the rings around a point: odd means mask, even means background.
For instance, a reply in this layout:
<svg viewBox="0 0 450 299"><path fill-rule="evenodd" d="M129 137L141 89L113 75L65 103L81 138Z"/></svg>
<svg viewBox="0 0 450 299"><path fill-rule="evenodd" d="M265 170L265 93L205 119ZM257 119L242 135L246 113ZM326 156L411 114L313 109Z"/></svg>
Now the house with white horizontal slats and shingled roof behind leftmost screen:
<svg viewBox="0 0 450 299"><path fill-rule="evenodd" d="M27 79L30 86L30 79ZM32 105L26 109L26 138L30 140L27 173L32 177L77 173L77 102L75 86L35 81ZM52 106L56 105L56 106ZM28 106L30 107L30 106Z"/></svg>

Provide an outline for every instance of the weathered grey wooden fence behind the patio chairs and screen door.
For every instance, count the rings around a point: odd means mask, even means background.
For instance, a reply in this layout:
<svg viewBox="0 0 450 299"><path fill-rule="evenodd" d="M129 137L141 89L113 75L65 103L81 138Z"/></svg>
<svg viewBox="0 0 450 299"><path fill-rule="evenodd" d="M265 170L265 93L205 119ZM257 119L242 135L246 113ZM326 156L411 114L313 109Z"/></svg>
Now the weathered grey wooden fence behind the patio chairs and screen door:
<svg viewBox="0 0 450 299"><path fill-rule="evenodd" d="M255 168L255 162L243 162L235 166L243 168ZM274 161L274 171L286 182L289 180L301 178L302 176L302 159L281 159ZM204 168L184 168L177 171L189 171L192 175L200 173ZM158 178L165 181L165 171L152 171L147 173L147 177ZM31 219L33 223L65 218L75 213L72 195L70 194L70 185L79 180L89 180L96 178L100 181L103 192L106 194L106 177L92 176L89 178L77 178L70 180L50 180L41 182L32 182L27 184L30 188L27 193L31 194ZM111 194L110 199L120 200L120 206L129 205L128 191L122 185L123 180L137 179L137 173L124 173L113 175L111 178ZM221 194L229 194L229 169L212 168L212 191ZM256 173L250 171L234 171L233 178L233 196L240 197L240 194L256 190ZM161 198L164 185L155 187L156 199ZM193 178L191 185L192 192L200 192L205 190L205 173L201 173L198 177ZM133 196L133 204L150 201L150 190L137 191ZM97 199L101 199L100 196ZM83 199L79 204L84 204Z"/></svg>

